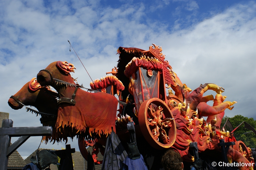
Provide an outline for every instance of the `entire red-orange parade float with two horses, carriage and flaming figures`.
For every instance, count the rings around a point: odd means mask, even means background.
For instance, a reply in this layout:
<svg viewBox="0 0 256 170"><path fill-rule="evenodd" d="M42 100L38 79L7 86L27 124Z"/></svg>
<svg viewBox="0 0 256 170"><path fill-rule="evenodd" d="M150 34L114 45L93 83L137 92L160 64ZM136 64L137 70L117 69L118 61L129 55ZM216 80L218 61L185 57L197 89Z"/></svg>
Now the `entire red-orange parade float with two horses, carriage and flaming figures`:
<svg viewBox="0 0 256 170"><path fill-rule="evenodd" d="M178 151L185 167L201 158L213 168L212 162L223 161L224 154L229 163L247 163L239 169L254 168L248 164L254 163L252 151L242 141L225 144L229 132L220 123L225 109L232 110L236 102L224 101L222 87L205 83L192 91L155 44L149 50L119 47L117 53L117 66L106 77L92 81L90 89L71 77L74 65L57 61L39 71L37 79L25 84L8 103L13 109L35 106L38 111L27 110L41 114L43 126L53 128L52 136L44 137L46 142L67 141L67 137L76 136L86 160L86 147L93 147L95 164L102 163L97 155L104 155L112 132L125 150L129 149L131 135L127 125L132 124L134 141L148 169L162 169L160 159L167 149ZM207 90L214 94L204 96ZM192 148L199 156L193 154Z"/></svg>

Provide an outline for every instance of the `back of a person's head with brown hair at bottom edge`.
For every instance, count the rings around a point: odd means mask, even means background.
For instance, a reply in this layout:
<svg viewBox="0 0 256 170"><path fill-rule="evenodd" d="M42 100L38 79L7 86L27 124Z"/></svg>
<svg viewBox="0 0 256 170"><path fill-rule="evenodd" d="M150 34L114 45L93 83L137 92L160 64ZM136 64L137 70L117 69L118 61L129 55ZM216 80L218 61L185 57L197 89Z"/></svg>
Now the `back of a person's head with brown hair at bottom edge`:
<svg viewBox="0 0 256 170"><path fill-rule="evenodd" d="M172 149L164 153L161 163L164 170L182 170L184 168L180 154Z"/></svg>

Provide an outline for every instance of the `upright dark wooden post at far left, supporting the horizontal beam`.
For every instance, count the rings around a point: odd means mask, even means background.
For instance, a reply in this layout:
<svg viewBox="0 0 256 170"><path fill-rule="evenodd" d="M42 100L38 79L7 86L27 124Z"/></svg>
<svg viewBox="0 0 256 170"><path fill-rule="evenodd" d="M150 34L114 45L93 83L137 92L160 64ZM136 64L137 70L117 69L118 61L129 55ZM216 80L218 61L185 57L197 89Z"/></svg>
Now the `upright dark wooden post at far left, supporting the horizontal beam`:
<svg viewBox="0 0 256 170"><path fill-rule="evenodd" d="M4 119L2 122L2 128L10 128L13 125L13 121L11 119ZM11 137L9 135L0 135L0 163L1 169L5 170L8 166L8 156L7 149L10 146Z"/></svg>

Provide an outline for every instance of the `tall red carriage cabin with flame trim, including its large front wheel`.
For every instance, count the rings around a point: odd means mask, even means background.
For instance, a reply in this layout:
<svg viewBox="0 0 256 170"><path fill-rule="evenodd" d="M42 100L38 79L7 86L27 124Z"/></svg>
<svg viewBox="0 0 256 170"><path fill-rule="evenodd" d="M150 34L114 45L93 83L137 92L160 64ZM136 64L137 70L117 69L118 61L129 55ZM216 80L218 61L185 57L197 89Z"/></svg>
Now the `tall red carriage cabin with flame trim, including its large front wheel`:
<svg viewBox="0 0 256 170"><path fill-rule="evenodd" d="M129 55L129 51L132 50L137 51L138 56ZM131 114L130 111L128 114L137 124L135 127L141 131L152 147L156 149L170 148L175 142L176 126L172 112L167 105L169 101L166 99L165 84L170 85L172 81L172 67L167 61L164 61L161 49L156 46L155 49L150 47L148 51L119 47L118 53L116 77L124 83L125 87L119 94L119 99L127 104L135 104L132 109L133 113ZM168 75L165 75L166 73ZM173 85L175 85L174 82ZM123 118L126 120L125 109L125 105L121 106L120 119L122 119L121 116L124 116ZM136 119L138 121L135 121ZM117 134L122 138L124 132L125 130L117 131Z"/></svg>

